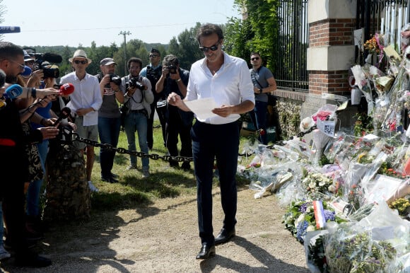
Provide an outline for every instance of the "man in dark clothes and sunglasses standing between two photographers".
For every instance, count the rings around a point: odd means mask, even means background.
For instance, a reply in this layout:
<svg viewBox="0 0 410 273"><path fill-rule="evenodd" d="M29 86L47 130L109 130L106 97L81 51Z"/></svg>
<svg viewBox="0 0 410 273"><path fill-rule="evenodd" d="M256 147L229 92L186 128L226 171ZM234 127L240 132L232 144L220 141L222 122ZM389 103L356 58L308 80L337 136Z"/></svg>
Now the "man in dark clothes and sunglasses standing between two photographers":
<svg viewBox="0 0 410 273"><path fill-rule="evenodd" d="M160 51L153 48L151 49L151 53L149 54L150 64L145 66L139 74L141 76L146 77L149 81L151 81L151 86L153 88L154 94L154 101L151 103L151 115L148 117L148 131L146 133L146 141L148 142L148 149L152 150L153 148L153 119L155 110L158 114L158 120L160 120L161 130L163 132L163 141L165 145L165 112L167 108L165 107L166 104L166 97L164 92L156 93L156 83L160 79L160 76L163 71L163 66L160 64L161 62L161 54Z"/></svg>

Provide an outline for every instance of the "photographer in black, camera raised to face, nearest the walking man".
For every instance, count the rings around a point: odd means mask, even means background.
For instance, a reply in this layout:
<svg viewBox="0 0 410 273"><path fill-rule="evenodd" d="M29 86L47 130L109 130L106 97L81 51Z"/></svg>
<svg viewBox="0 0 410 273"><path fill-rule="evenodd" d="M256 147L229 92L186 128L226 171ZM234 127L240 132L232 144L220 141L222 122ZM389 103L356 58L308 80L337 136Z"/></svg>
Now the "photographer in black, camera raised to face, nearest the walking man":
<svg viewBox="0 0 410 273"><path fill-rule="evenodd" d="M177 93L181 98L187 95L187 85L189 80L189 71L180 68L180 62L175 55L167 55L163 59L163 74L156 84L156 92L165 91L168 97L170 93ZM181 139L180 156L192 157L192 140L191 128L194 114L178 109L174 105L167 106L165 115L166 125L165 134L168 153L170 156L178 156L178 134ZM179 167L177 161L170 161L171 167ZM183 170L189 170L191 165L188 161L182 163Z"/></svg>

